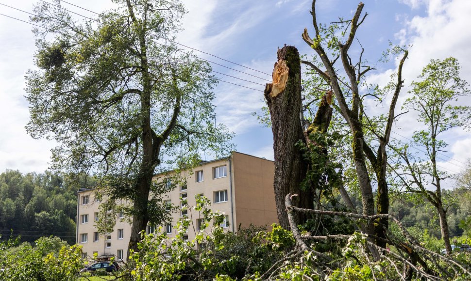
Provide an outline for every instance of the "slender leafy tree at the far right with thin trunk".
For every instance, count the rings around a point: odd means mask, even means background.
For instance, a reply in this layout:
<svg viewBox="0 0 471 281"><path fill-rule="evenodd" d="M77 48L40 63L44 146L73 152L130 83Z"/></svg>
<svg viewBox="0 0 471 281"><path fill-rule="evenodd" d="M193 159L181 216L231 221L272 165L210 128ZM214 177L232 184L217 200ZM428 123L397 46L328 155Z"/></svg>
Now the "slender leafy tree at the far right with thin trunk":
<svg viewBox="0 0 471 281"><path fill-rule="evenodd" d="M414 133L410 144L424 147L424 155L411 154L409 145L396 148L399 157L396 173L400 176L400 184L407 191L423 196L437 209L448 254L452 248L446 216L448 206L442 196L442 184L450 176L440 171L437 157L448 146L442 140L443 135L453 128L469 125L471 120L471 107L457 103L460 97L470 95L468 83L460 78L459 70L458 61L452 57L443 61L432 60L423 68L418 77L421 80L412 82L411 97L405 101L404 107L413 109L418 114L417 122L425 127Z"/></svg>

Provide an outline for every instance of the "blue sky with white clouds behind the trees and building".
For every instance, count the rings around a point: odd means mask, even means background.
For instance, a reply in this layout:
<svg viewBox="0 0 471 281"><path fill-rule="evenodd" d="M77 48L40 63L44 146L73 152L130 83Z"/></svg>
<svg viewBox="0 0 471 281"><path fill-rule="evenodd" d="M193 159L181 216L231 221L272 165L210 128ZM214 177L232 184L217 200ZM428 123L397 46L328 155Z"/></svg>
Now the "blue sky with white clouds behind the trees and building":
<svg viewBox="0 0 471 281"><path fill-rule="evenodd" d="M113 7L109 0L67 0L94 12ZM195 51L203 59L227 67L214 65L215 71L243 81L216 74L221 80L253 89L219 82L215 88L217 122L234 131L236 150L254 156L273 159L273 138L270 128L258 124L252 112L264 105L264 85L271 81L278 47L292 45L301 54L313 55L313 50L301 39L304 28L314 34L309 14L310 0L183 0L188 14L185 28L177 41L188 47L214 54L254 70L221 61ZM469 0L364 0L368 16L357 32L365 48L365 55L377 70L370 72L369 83L384 85L396 68L396 61L376 62L393 44L411 45L405 62L403 88L398 110L407 98L408 85L417 80L421 69L431 59L453 56L462 66L461 77L471 81L471 15ZM1 4L32 12L35 1L1 0ZM318 22L351 18L358 5L353 0L317 0ZM63 2L63 6L84 16L92 13ZM28 20L28 15L0 5L0 13ZM78 17L77 19L80 19ZM35 51L32 26L0 15L0 171L43 172L49 167L50 149L57 145L47 140L34 140L24 127L29 120L24 76L34 67ZM357 43L355 43L357 44ZM358 46L356 46L358 47ZM355 47L354 47L355 48ZM185 49L185 48L184 48ZM238 72L243 71L253 76ZM256 76L256 77L254 77ZM254 83L253 83L254 82ZM471 99L463 99L471 104ZM381 112L371 108L371 113ZM405 114L395 124L392 137L407 141L417 129L414 114ZM460 172L471 158L471 133L455 129L446 135L448 151L440 155L439 165L448 172ZM207 159L209 160L209 159Z"/></svg>

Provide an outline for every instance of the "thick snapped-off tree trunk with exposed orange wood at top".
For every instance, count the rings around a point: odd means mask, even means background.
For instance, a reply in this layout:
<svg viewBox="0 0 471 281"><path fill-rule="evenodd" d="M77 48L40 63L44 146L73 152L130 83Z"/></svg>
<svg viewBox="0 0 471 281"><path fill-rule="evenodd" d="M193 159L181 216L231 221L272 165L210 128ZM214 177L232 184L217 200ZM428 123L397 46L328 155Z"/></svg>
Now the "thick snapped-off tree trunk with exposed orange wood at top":
<svg viewBox="0 0 471 281"><path fill-rule="evenodd" d="M273 82L265 88L265 98L270 110L275 156L275 203L280 225L289 229L285 197L288 193L298 194L293 205L300 208L314 207L312 190L301 190L300 184L307 171L301 151L296 146L304 142L303 127L299 118L301 106L301 62L296 47L285 46L278 50L278 62L273 70ZM297 223L309 217L297 214Z"/></svg>

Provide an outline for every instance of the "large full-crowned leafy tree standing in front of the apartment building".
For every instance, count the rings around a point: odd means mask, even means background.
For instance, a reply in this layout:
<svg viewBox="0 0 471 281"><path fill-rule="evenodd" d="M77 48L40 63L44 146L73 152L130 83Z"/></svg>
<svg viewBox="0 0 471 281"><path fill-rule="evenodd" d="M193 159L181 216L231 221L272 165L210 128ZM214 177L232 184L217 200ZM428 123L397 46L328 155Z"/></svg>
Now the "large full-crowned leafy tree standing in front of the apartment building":
<svg viewBox="0 0 471 281"><path fill-rule="evenodd" d="M54 168L94 172L111 201L133 202L129 249L136 250L147 223L167 219L150 212L165 210L149 200L156 168L195 164L205 150L227 151L232 135L214 125L211 67L166 40L181 29L183 5L114 2L115 10L83 24L59 0L35 6L32 19L43 29L34 30L38 70L27 75L27 130L60 143L52 150Z"/></svg>

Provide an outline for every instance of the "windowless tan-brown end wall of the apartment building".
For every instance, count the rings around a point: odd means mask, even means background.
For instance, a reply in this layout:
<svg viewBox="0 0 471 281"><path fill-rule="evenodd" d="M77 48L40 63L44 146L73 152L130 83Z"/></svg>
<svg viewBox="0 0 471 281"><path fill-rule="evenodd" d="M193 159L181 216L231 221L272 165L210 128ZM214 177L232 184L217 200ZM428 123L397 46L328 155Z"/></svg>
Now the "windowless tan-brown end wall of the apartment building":
<svg viewBox="0 0 471 281"><path fill-rule="evenodd" d="M275 164L263 158L233 154L235 217L239 224L271 226L278 223L273 177Z"/></svg>

